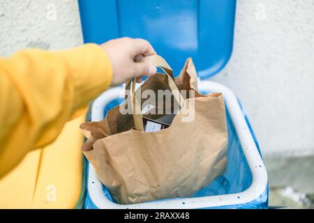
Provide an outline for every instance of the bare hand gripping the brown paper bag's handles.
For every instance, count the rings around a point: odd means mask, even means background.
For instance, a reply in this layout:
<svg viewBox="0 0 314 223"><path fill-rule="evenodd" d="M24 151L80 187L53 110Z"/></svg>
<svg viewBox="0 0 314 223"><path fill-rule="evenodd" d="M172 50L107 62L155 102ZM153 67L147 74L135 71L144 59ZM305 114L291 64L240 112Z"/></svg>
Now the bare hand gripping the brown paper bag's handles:
<svg viewBox="0 0 314 223"><path fill-rule="evenodd" d="M149 66L145 62L137 62L143 56L156 54L147 40L119 38L103 43L101 47L108 54L112 63L112 85L122 84L130 78L136 78L137 82L142 82L142 76L151 76L157 72L156 67Z"/></svg>

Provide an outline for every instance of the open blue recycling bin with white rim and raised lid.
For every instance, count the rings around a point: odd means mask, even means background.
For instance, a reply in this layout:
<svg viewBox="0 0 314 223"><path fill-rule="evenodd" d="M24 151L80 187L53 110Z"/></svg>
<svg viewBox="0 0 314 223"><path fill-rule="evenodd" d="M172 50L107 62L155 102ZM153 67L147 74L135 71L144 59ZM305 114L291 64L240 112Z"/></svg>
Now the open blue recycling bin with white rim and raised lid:
<svg viewBox="0 0 314 223"><path fill-rule="evenodd" d="M267 171L239 100L222 84L205 80L219 72L232 53L236 0L79 0L85 43L112 38L145 38L179 74L192 57L199 90L224 95L227 111L227 169L192 197L130 205L115 202L87 162L85 208L268 208ZM123 98L123 87L100 95L91 121L100 121Z"/></svg>

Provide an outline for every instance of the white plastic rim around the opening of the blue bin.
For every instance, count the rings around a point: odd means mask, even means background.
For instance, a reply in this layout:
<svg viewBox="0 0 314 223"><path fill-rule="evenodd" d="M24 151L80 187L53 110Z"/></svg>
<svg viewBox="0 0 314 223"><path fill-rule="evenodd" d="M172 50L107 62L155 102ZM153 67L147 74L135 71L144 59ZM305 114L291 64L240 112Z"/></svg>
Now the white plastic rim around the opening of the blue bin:
<svg viewBox="0 0 314 223"><path fill-rule="evenodd" d="M218 206L232 206L253 201L257 199L257 197L260 197L264 190L266 190L267 171L262 158L258 153L254 139L248 128L236 96L227 87L211 81L200 82L199 89L200 91L223 93L225 103L228 107L228 112L230 112L232 123L239 137L248 166L252 172L253 180L251 186L244 192L237 194L224 194L209 197L184 198L121 205L113 203L105 197L103 194L103 185L100 183L100 180L98 180L94 167L89 164L89 196L91 197L91 201L93 201L98 208L210 208ZM112 100L123 97L123 95L123 87L110 89L100 95L91 107L91 121L102 120L105 106Z"/></svg>

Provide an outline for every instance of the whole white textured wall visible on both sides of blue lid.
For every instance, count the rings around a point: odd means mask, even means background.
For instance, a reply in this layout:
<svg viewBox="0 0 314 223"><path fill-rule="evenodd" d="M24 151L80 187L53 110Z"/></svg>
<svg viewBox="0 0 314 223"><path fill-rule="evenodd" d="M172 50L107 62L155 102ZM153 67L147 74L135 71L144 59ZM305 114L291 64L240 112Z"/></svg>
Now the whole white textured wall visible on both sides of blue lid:
<svg viewBox="0 0 314 223"><path fill-rule="evenodd" d="M81 43L76 0L0 0L1 56ZM237 94L264 154L314 153L314 0L239 0L232 58L214 79Z"/></svg>

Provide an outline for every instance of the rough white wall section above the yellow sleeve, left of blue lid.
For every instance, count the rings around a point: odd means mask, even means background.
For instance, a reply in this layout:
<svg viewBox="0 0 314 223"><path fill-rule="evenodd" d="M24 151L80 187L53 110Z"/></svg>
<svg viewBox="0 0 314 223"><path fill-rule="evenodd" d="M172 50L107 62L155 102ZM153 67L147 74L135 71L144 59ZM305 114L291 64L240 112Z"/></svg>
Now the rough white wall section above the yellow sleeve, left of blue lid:
<svg viewBox="0 0 314 223"><path fill-rule="evenodd" d="M77 0L0 0L0 55L83 43Z"/></svg>

